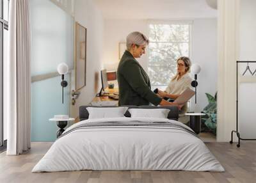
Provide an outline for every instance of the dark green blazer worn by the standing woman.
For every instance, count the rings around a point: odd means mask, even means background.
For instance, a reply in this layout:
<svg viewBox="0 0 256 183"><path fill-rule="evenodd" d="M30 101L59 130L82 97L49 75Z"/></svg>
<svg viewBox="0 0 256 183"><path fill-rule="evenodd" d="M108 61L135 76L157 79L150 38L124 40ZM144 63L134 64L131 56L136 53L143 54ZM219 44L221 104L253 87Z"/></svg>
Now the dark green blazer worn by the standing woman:
<svg viewBox="0 0 256 183"><path fill-rule="evenodd" d="M157 106L161 97L151 91L147 73L129 51L125 51L117 68L119 106Z"/></svg>

